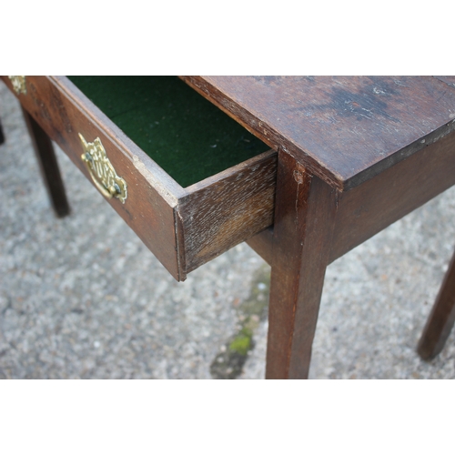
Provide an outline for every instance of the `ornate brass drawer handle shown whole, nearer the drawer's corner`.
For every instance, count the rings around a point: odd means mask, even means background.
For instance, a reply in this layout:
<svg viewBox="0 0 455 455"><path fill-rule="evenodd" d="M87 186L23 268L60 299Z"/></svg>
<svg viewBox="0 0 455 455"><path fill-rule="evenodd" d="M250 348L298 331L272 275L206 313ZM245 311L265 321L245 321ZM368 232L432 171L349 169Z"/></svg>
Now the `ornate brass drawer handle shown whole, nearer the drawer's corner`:
<svg viewBox="0 0 455 455"><path fill-rule="evenodd" d="M127 197L126 181L116 175L116 169L106 156L105 147L101 144L99 137L96 137L93 142L86 142L80 133L79 137L84 148L81 158L86 163L86 168L95 186L104 197L108 199L116 197L120 199L122 204L125 204Z"/></svg>

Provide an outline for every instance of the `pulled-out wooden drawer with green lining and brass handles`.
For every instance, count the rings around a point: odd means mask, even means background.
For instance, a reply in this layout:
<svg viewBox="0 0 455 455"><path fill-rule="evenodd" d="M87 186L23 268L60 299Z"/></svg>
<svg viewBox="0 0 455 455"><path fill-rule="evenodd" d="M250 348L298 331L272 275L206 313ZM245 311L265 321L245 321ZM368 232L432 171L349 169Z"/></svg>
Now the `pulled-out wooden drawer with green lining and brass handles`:
<svg viewBox="0 0 455 455"><path fill-rule="evenodd" d="M177 77L3 78L177 280L272 225L276 152Z"/></svg>

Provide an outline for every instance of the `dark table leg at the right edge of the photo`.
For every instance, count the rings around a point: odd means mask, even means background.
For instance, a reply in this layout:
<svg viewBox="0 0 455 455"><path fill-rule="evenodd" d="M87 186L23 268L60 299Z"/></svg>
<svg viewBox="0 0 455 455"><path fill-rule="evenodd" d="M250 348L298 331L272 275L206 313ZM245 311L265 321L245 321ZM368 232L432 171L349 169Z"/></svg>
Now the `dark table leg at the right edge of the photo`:
<svg viewBox="0 0 455 455"><path fill-rule="evenodd" d="M455 322L455 253L440 286L429 319L419 341L418 352L423 359L436 357L449 338Z"/></svg>

